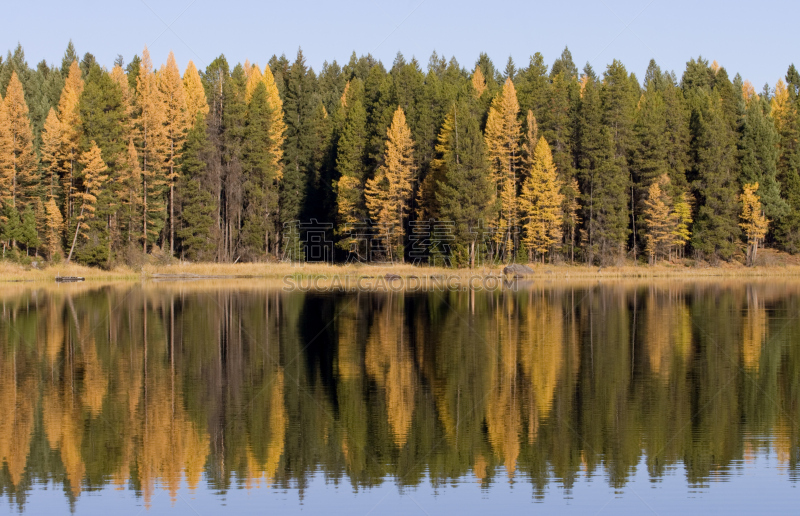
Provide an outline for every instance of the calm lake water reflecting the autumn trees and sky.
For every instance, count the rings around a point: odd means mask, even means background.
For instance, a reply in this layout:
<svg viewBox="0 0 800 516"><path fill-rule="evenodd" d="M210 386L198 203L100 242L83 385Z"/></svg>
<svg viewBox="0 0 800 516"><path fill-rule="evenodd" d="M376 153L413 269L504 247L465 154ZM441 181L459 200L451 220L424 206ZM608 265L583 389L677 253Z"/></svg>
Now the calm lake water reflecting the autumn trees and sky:
<svg viewBox="0 0 800 516"><path fill-rule="evenodd" d="M800 501L796 282L6 286L0 302L0 512Z"/></svg>

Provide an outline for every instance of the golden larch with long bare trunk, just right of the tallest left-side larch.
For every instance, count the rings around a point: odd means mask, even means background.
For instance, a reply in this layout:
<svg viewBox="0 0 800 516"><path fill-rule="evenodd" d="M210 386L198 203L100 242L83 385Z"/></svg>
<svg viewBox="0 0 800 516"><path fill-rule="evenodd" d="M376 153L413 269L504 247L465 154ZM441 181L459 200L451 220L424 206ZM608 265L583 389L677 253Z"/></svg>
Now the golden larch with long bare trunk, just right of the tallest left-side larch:
<svg viewBox="0 0 800 516"><path fill-rule="evenodd" d="M183 80L175 63L175 54L169 53L167 64L158 74L158 87L164 114L166 138L167 182L169 183L169 255L175 254L175 185L178 179L177 161L181 157L183 142L191 120L187 116Z"/></svg>

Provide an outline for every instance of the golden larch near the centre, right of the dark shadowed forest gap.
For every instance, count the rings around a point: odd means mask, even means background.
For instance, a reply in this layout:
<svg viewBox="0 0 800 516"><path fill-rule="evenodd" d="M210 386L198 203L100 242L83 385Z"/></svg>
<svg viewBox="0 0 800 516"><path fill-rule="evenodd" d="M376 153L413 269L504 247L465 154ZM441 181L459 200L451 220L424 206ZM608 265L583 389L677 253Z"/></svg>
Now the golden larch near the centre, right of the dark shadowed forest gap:
<svg viewBox="0 0 800 516"><path fill-rule="evenodd" d="M411 184L414 181L414 142L406 124L406 114L398 107L386 132L384 165L368 179L365 188L367 209L373 223L385 232L389 253L402 245L403 220L408 214ZM402 259L402 253L399 255Z"/></svg>

